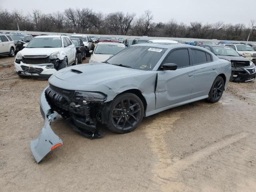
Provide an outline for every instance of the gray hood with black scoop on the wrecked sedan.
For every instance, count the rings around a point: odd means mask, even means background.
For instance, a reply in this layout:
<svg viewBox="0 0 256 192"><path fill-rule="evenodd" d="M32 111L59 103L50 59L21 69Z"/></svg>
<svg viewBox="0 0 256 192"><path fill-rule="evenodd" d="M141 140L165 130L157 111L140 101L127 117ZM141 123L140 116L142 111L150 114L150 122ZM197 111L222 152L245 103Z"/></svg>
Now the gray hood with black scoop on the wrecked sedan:
<svg viewBox="0 0 256 192"><path fill-rule="evenodd" d="M120 81L124 78L133 79L136 76L152 73L153 71L136 70L105 63L91 63L71 66L56 72L53 76L73 84L103 84ZM154 72L153 72L154 73ZM51 79L49 82L51 83ZM106 83L107 84L107 83Z"/></svg>

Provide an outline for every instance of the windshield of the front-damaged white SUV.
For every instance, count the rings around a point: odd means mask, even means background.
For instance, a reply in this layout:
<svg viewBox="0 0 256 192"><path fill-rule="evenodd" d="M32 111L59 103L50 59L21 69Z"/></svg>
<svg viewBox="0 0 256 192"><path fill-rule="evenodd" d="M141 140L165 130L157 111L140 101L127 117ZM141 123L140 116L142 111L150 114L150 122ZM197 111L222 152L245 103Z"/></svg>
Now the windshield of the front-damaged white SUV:
<svg viewBox="0 0 256 192"><path fill-rule="evenodd" d="M62 47L61 39L60 38L33 38L26 48L56 48Z"/></svg>

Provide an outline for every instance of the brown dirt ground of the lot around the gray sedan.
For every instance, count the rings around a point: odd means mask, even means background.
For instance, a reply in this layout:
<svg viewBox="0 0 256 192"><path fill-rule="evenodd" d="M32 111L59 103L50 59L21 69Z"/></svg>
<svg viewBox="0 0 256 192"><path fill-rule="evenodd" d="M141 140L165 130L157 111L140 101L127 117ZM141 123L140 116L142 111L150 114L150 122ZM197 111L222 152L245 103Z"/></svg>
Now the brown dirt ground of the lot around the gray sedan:
<svg viewBox="0 0 256 192"><path fill-rule="evenodd" d="M255 192L256 82L230 83L220 102L187 104L144 118L129 134L90 140L62 119L63 146L37 164L46 80L19 78L0 57L0 191ZM85 61L88 62L88 59Z"/></svg>

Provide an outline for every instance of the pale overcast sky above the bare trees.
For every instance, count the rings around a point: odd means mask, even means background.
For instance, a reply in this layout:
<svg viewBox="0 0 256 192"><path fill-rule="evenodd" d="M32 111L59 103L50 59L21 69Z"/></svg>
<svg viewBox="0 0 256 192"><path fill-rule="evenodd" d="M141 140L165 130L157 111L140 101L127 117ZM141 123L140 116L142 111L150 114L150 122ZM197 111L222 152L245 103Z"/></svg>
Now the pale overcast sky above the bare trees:
<svg viewBox="0 0 256 192"><path fill-rule="evenodd" d="M0 7L9 11L22 9L24 13L40 9L43 13L63 12L66 8L92 8L96 12L134 12L137 16L151 10L154 22L178 22L249 25L256 19L256 0L0 0Z"/></svg>

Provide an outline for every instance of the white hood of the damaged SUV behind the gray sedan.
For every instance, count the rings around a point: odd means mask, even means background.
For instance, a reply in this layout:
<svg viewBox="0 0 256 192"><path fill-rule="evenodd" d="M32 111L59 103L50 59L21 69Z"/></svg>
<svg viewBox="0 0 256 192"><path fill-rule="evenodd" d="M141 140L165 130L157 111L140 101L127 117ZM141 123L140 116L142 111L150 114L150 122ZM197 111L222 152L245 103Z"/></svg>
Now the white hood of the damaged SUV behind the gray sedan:
<svg viewBox="0 0 256 192"><path fill-rule="evenodd" d="M60 48L24 48L20 51L24 55L50 55L53 52L59 51Z"/></svg>

